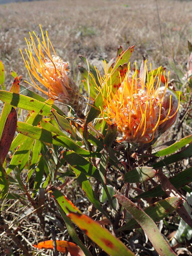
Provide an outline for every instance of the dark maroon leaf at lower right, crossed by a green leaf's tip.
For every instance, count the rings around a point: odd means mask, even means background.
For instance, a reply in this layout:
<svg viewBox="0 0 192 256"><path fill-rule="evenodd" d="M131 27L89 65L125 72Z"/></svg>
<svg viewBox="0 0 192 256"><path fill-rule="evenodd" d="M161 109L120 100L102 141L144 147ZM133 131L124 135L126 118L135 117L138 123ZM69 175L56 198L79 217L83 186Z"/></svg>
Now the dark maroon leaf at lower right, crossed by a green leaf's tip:
<svg viewBox="0 0 192 256"><path fill-rule="evenodd" d="M183 197L181 193L171 184L169 179L163 174L161 170L158 171L158 177L161 183L161 188L162 190L169 196L177 196L182 198L183 200L186 201L186 198ZM190 215L187 213L185 207L183 205L180 206L179 209L177 209L177 213L179 216L190 226L192 227L192 219Z"/></svg>

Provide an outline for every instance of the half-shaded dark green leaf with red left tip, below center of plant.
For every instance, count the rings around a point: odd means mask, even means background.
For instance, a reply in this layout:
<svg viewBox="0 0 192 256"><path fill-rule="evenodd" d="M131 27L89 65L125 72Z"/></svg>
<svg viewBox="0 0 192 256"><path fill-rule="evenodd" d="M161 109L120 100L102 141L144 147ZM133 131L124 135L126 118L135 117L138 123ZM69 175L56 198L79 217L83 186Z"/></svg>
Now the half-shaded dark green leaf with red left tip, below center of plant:
<svg viewBox="0 0 192 256"><path fill-rule="evenodd" d="M74 151L64 151L63 158L75 169L85 173L88 176L94 177L96 179L99 178L99 171L98 169L92 165L89 161L85 158L81 157L80 155L76 154Z"/></svg>

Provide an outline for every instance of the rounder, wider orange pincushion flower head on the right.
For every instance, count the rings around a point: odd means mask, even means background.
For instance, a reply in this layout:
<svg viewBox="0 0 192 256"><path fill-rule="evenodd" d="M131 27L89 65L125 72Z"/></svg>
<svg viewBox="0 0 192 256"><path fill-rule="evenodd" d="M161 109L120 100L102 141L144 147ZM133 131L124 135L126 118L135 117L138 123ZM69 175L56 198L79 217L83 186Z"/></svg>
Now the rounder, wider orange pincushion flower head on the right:
<svg viewBox="0 0 192 256"><path fill-rule="evenodd" d="M103 85L107 97L102 94L105 108L101 114L109 125L117 124L118 132L122 135L117 138L118 142L150 143L175 122L180 95L178 101L167 88L169 74L165 86L161 87L161 67L155 76L149 77L145 62L145 70L146 83L144 76L143 79L137 78L137 69L130 75L129 64L125 79L115 94L111 85ZM101 91L101 87L98 90Z"/></svg>

